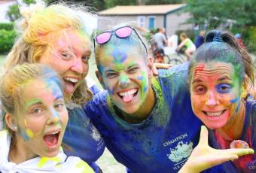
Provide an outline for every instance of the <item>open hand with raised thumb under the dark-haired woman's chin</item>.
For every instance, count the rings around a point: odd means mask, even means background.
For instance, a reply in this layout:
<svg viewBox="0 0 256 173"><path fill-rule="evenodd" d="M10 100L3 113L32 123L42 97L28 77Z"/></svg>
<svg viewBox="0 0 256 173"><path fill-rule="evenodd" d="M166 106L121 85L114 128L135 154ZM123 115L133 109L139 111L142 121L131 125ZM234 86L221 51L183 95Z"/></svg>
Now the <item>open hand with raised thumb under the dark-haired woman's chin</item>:
<svg viewBox="0 0 256 173"><path fill-rule="evenodd" d="M216 150L208 144L208 131L206 126L201 127L200 141L190 154L187 162L178 171L179 173L195 173L211 168L212 166L238 159L239 156L254 153L251 148Z"/></svg>

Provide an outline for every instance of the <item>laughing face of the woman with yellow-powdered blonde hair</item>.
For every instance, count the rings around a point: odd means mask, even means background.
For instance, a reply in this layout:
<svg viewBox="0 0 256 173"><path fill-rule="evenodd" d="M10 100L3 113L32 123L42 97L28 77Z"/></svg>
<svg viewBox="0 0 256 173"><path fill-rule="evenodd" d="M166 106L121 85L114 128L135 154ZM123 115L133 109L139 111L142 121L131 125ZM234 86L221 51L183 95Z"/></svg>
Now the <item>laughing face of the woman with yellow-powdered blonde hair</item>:
<svg viewBox="0 0 256 173"><path fill-rule="evenodd" d="M63 77L66 98L71 99L72 94L88 73L90 54L88 36L82 31L65 29L59 39L53 43L53 49L49 47L39 62L50 65ZM67 77L78 82L72 84L66 80Z"/></svg>

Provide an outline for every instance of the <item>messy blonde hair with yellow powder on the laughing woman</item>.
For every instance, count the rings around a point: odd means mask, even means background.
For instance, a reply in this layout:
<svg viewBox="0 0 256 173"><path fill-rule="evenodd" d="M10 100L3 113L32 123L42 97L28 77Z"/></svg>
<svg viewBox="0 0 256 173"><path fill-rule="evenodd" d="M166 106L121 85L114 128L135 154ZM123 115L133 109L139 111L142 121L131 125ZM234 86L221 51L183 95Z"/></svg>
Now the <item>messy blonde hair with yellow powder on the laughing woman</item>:
<svg viewBox="0 0 256 173"><path fill-rule="evenodd" d="M17 38L7 56L5 69L23 62L38 62L45 51L53 50L53 44L60 36L66 36L67 29L83 32L85 36L90 38L78 10L86 12L87 8L81 6L78 8L75 5L69 8L61 4L45 7L44 3L21 8L22 17L16 25L20 37ZM92 96L93 94L87 88L84 80L75 90L72 101L81 104L90 100Z"/></svg>

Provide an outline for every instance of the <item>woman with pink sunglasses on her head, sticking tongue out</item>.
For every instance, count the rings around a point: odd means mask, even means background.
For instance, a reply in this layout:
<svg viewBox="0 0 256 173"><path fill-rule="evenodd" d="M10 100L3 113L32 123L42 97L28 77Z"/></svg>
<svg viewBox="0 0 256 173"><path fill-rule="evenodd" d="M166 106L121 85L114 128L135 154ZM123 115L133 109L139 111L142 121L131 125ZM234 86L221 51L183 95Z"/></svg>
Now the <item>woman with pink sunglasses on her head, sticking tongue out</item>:
<svg viewBox="0 0 256 173"><path fill-rule="evenodd" d="M108 150L130 171L177 172L197 146L202 124L190 107L187 64L159 71L159 76L153 77L148 60L151 52L139 30L142 32L135 26L121 26L96 35L96 75L107 91L93 96L84 111ZM206 148L207 140L203 141ZM212 154L218 152L211 150ZM227 150L214 156L224 162L224 158L237 158L236 154L244 151ZM187 168L199 166L197 172L220 163L198 165L197 161L190 158Z"/></svg>

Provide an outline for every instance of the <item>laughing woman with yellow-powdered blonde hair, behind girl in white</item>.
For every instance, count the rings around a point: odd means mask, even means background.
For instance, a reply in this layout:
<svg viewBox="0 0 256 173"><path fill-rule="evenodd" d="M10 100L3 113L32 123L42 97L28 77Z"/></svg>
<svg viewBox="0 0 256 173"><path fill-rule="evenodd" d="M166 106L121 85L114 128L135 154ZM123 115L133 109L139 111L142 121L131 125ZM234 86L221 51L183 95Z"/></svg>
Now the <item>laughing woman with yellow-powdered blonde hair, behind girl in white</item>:
<svg viewBox="0 0 256 173"><path fill-rule="evenodd" d="M84 80L91 54L86 23L78 11L64 5L31 5L22 8L20 14L22 18L17 23L20 38L8 54L5 69L23 62L37 62L50 65L61 75L69 112L63 141L72 147L72 152L66 152L84 159L97 172L99 168L94 162L102 155L105 144L81 109L92 97Z"/></svg>

